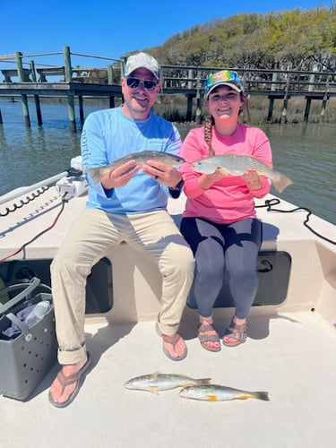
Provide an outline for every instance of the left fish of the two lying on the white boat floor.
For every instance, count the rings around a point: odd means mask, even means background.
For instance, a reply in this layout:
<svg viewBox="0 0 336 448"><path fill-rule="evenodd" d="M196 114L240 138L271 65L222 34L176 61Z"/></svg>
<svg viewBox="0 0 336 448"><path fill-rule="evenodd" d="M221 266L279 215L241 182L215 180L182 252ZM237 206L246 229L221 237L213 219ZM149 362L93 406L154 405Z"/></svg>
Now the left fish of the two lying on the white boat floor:
<svg viewBox="0 0 336 448"><path fill-rule="evenodd" d="M126 389L148 391L159 395L159 391L168 391L177 387L186 387L196 384L210 383L211 378L194 379L187 375L160 374L155 372L150 375L136 376L128 380L124 386Z"/></svg>

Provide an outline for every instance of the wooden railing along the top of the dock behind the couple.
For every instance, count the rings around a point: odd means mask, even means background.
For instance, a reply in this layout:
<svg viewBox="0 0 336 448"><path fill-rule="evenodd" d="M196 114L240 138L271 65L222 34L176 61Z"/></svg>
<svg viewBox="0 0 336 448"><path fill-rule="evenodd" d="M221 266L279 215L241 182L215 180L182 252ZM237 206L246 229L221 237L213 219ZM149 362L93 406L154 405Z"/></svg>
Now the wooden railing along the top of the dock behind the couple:
<svg viewBox="0 0 336 448"><path fill-rule="evenodd" d="M40 64L37 58L47 56L58 56L58 61L62 64L46 65ZM86 65L72 65L73 57L84 57ZM34 60L27 62L30 57ZM61 57L61 59L60 59ZM87 65L90 58L109 61L104 66ZM0 63L11 63L10 68L0 65L1 73L4 76L3 82L88 82L106 84L120 84L120 76L124 73L126 58L110 58L103 56L84 55L72 53L70 47L64 47L63 52L43 53L38 55L22 55L17 52L13 55L0 56ZM23 67L23 65L29 65ZM267 94L269 91L289 90L301 95L305 92L328 91L336 94L336 72L335 71L297 71L280 69L258 69L244 67L204 67L204 66L181 66L181 65L161 65L161 85L162 91L171 93L184 93L185 90L200 90L207 76L211 73L219 72L223 68L235 70L241 77L245 90L249 94ZM33 76L35 73L35 76ZM38 76L36 75L38 74ZM53 79L50 79L52 77ZM13 80L15 78L15 80ZM102 82L103 81L103 82Z"/></svg>

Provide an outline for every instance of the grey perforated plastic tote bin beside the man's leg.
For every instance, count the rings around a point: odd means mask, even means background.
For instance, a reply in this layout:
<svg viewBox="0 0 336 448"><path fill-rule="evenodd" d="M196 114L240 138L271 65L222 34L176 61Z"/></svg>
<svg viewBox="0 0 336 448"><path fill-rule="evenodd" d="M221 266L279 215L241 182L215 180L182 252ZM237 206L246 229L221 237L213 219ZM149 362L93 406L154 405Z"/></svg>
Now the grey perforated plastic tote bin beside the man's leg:
<svg viewBox="0 0 336 448"><path fill-rule="evenodd" d="M26 400L41 383L47 372L56 364L57 343L54 307L51 306L42 319L31 328L16 317L24 307L48 300L50 293L32 292L39 285L39 279L32 279L27 285L13 285L3 289L11 293L25 288L4 305L0 304L0 394L17 400ZM14 339L6 338L4 331L15 324L21 330Z"/></svg>

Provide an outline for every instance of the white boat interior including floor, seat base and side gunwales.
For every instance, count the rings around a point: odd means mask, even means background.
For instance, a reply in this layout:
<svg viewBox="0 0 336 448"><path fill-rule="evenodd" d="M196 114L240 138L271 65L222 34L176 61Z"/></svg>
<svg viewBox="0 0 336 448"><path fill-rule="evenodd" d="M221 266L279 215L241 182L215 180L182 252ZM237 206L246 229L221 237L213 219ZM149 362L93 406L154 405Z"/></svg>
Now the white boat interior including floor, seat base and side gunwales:
<svg viewBox="0 0 336 448"><path fill-rule="evenodd" d="M181 201L169 202L177 222ZM84 202L85 197L68 202L56 226L11 259L52 258ZM0 220L0 259L49 228L59 205L59 196L50 189L39 205L31 202ZM281 202L277 207L290 210L295 206ZM169 360L154 329L159 274L155 266L121 245L109 254L114 306L106 315L87 318L87 346L93 362L79 395L65 409L49 404L48 388L59 368L54 366L28 401L0 396L1 447L332 446L336 247L303 226L303 213L261 208L258 216L263 220L263 249L288 251L292 265L285 302L253 307L245 344L223 347L219 353L202 349L196 337L196 313L186 308L180 332L188 355L180 362ZM310 224L324 237L335 239L336 227L331 223L312 216ZM232 312L231 308L215 310L219 332ZM189 401L179 397L178 389L159 396L125 389L128 379L154 372L211 377L213 383L269 392L270 401Z"/></svg>

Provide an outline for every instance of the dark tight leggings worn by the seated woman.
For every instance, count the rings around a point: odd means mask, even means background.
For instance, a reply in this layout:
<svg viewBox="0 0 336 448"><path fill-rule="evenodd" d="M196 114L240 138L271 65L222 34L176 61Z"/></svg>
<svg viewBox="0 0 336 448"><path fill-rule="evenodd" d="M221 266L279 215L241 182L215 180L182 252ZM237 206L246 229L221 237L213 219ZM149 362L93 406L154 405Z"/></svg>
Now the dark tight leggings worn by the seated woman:
<svg viewBox="0 0 336 448"><path fill-rule="evenodd" d="M203 317L212 314L226 270L236 315L239 319L247 317L258 288L256 263L262 229L262 223L252 218L232 224L216 224L201 218L182 219L181 233L196 260L190 294Z"/></svg>

